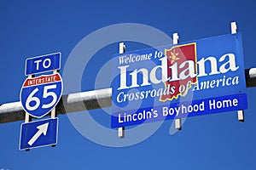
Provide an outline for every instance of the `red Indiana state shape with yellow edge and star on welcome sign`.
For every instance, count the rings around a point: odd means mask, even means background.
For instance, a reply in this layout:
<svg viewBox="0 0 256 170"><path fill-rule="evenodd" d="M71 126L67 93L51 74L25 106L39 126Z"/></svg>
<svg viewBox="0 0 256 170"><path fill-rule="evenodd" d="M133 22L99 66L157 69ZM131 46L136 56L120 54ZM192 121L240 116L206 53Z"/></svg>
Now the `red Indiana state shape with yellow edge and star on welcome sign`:
<svg viewBox="0 0 256 170"><path fill-rule="evenodd" d="M172 77L172 79L164 82L169 93L160 96L162 102L185 96L191 85L196 83L196 42L165 49L165 55L167 77Z"/></svg>

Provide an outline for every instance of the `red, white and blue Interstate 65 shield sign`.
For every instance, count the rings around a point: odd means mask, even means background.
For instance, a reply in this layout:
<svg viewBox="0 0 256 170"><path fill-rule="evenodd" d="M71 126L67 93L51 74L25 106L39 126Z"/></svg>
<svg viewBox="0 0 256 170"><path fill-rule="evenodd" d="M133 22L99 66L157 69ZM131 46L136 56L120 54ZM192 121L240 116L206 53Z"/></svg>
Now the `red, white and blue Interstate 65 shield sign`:
<svg viewBox="0 0 256 170"><path fill-rule="evenodd" d="M51 111L61 99L62 79L59 73L26 78L20 91L23 109L40 118Z"/></svg>

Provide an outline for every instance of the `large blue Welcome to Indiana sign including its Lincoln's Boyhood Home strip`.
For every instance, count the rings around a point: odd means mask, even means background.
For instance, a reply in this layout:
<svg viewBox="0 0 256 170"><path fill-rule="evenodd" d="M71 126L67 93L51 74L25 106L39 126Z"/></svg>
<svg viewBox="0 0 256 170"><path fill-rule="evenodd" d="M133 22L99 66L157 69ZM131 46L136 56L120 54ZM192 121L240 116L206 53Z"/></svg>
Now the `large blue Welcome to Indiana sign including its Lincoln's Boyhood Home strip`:
<svg viewBox="0 0 256 170"><path fill-rule="evenodd" d="M112 127L247 109L241 33L116 54Z"/></svg>

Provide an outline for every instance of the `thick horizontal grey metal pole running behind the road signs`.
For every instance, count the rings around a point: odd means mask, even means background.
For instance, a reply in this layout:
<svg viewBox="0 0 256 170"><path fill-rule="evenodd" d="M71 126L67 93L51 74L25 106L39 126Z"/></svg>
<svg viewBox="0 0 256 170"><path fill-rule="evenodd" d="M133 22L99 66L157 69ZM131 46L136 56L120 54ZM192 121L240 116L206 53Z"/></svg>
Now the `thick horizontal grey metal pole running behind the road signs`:
<svg viewBox="0 0 256 170"><path fill-rule="evenodd" d="M247 69L245 75L247 88L256 87L256 68ZM62 95L56 106L56 113L61 115L110 107L112 105L111 97L112 88ZM0 123L23 120L25 120L25 111L23 111L20 101L0 105Z"/></svg>

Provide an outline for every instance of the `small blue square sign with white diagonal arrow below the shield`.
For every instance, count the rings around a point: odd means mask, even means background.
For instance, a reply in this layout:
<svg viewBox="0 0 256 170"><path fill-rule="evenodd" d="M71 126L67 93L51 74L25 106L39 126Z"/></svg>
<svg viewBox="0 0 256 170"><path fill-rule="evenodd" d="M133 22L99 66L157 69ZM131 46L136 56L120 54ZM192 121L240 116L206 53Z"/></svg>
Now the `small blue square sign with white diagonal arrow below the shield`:
<svg viewBox="0 0 256 170"><path fill-rule="evenodd" d="M22 123L20 150L57 144L58 118Z"/></svg>

